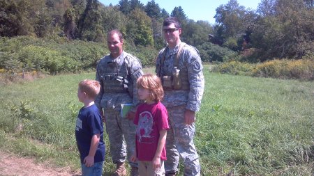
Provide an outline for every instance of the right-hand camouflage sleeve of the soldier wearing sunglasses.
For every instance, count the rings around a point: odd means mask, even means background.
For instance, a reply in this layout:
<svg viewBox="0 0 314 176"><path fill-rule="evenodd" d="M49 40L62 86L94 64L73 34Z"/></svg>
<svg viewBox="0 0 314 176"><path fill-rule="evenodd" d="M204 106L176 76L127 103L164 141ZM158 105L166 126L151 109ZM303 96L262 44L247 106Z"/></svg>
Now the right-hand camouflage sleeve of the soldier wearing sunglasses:
<svg viewBox="0 0 314 176"><path fill-rule="evenodd" d="M188 68L188 82L190 83L190 92L188 93L188 104L186 109L190 111L199 111L202 96L204 93L204 75L200 55L196 49L189 48L186 54L186 67Z"/></svg>

